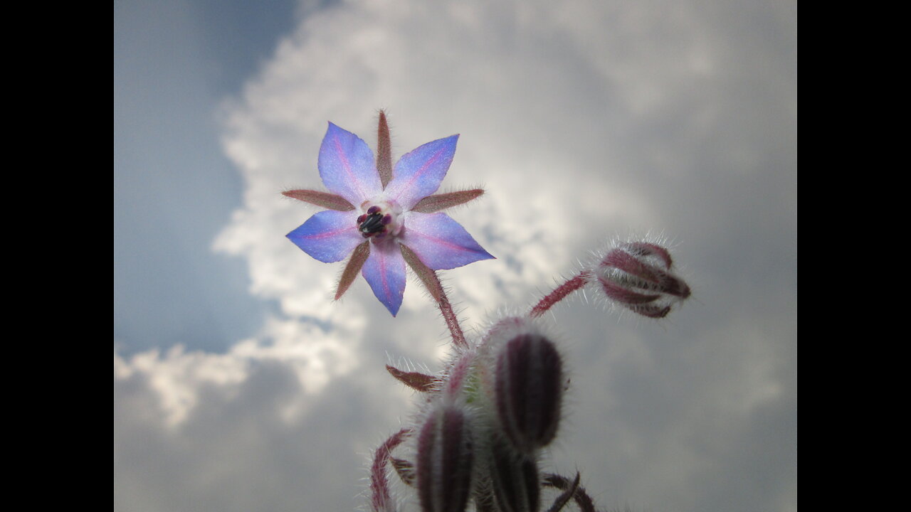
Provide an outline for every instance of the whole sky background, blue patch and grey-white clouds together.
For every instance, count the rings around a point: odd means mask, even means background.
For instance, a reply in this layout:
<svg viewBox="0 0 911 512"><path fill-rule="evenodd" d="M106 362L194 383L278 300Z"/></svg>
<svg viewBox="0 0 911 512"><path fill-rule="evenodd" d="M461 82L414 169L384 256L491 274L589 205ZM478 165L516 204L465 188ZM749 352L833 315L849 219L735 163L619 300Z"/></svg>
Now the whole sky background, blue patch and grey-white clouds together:
<svg viewBox="0 0 911 512"><path fill-rule="evenodd" d="M262 10L261 5L268 5ZM460 134L443 189L496 260L444 271L471 333L614 237L663 237L693 297L661 322L578 297L546 318L572 388L542 467L602 508L797 508L793 1L114 4L114 508L346 511L439 370L285 238L332 121L393 158ZM414 500L403 495L415 509Z"/></svg>

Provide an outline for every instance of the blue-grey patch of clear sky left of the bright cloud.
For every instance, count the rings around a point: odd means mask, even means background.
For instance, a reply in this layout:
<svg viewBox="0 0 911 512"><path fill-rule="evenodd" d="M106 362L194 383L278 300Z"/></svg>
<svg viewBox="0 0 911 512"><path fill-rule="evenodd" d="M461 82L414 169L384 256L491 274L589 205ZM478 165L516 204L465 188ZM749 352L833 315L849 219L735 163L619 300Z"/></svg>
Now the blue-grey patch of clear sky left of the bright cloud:
<svg viewBox="0 0 911 512"><path fill-rule="evenodd" d="M294 26L296 5L114 5L114 336L125 353L223 351L268 307L210 241L241 202L219 106Z"/></svg>

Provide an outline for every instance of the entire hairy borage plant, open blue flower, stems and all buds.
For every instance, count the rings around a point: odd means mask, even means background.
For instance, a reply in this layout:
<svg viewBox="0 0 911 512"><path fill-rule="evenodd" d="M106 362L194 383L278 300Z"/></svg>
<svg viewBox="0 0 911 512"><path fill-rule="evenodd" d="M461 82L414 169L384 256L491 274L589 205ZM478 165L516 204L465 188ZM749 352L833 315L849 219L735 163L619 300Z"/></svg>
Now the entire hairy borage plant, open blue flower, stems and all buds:
<svg viewBox="0 0 911 512"><path fill-rule="evenodd" d="M382 110L375 160L361 138L330 123L318 162L329 191L283 192L328 209L288 237L318 261L341 261L350 255L335 300L361 274L395 316L407 265L439 306L452 335L455 358L441 376L386 366L396 379L422 393L422 409L413 425L391 435L374 452L371 507L374 512L399 510L388 481L392 467L404 486L415 490L423 512L463 512L467 507L536 512L542 487L560 493L548 512L558 512L569 502L581 512L594 512L578 473L573 480L539 474L541 450L558 433L567 381L557 346L534 319L583 288L632 312L663 318L690 296L690 288L671 272L670 253L660 245L615 243L537 302L527 317L503 319L470 343L436 273L493 258L458 222L440 213L484 193L435 193L452 163L457 139L428 142L393 167ZM360 215L353 217L358 207ZM413 455L399 456L404 449Z"/></svg>

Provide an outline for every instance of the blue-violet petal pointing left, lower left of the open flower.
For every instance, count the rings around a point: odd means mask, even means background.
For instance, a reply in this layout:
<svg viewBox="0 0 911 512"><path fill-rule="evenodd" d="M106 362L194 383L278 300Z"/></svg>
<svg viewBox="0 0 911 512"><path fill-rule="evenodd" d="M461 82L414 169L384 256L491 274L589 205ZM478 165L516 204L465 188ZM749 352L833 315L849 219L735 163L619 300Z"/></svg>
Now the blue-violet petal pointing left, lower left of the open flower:
<svg viewBox="0 0 911 512"><path fill-rule="evenodd" d="M321 211L287 236L316 260L342 261L363 243L356 220L350 211Z"/></svg>

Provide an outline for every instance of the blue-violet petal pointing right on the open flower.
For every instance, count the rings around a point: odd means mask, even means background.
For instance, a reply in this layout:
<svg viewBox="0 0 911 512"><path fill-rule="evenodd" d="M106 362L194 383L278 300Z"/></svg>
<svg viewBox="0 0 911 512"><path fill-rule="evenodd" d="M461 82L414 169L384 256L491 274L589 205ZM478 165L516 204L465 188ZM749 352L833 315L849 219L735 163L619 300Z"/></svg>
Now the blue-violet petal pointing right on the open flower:
<svg viewBox="0 0 911 512"><path fill-rule="evenodd" d="M445 213L411 211L403 217L404 230L399 240L435 271L493 258Z"/></svg>

